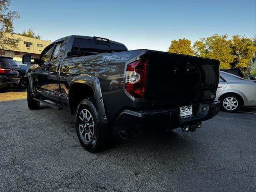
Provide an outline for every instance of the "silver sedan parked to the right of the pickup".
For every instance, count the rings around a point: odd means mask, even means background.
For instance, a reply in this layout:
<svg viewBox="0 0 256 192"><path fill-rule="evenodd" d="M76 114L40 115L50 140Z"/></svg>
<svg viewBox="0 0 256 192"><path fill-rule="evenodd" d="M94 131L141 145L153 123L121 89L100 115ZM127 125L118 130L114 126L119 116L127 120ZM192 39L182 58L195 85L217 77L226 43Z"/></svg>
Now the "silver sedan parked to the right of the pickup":
<svg viewBox="0 0 256 192"><path fill-rule="evenodd" d="M221 109L226 112L236 112L241 106L256 106L256 83L220 71L215 100L221 102Z"/></svg>

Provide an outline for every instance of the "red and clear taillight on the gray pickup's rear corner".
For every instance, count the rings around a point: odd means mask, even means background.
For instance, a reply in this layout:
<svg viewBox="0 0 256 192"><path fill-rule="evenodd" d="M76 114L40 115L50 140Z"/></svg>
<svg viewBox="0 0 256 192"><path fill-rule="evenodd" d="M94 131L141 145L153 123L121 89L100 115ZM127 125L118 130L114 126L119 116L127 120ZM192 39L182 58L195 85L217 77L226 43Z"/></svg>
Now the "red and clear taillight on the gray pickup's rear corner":
<svg viewBox="0 0 256 192"><path fill-rule="evenodd" d="M144 98L147 80L147 62L138 60L126 68L125 89L135 98Z"/></svg>

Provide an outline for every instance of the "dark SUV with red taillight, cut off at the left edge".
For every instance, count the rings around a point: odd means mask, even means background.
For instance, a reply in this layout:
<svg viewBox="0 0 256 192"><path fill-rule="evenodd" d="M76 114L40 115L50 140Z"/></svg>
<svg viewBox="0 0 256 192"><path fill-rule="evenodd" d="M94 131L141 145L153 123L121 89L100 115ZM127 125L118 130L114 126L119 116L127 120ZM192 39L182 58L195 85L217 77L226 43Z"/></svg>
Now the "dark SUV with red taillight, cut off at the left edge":
<svg viewBox="0 0 256 192"><path fill-rule="evenodd" d="M20 84L20 67L11 58L0 56L0 89Z"/></svg>

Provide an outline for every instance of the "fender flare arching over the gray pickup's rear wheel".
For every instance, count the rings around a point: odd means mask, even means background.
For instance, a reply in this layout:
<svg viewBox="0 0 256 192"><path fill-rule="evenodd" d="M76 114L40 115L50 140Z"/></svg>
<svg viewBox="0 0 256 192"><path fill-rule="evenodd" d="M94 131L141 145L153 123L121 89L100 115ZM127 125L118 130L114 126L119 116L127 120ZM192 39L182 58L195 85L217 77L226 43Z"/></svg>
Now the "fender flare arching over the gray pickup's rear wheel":
<svg viewBox="0 0 256 192"><path fill-rule="evenodd" d="M102 90L101 90L101 86L100 86L100 80L95 76L78 75L78 76L75 76L74 78L72 78L72 81L70 83L70 88L68 90L68 105L70 105L70 94L69 94L70 89L72 88L72 86L74 84L77 84L77 83L85 84L93 90L94 96L95 96L95 101L96 101L96 108L98 110L98 114L100 117L100 123L102 125L108 124L107 114L106 114L105 105L104 105L104 99L102 96ZM80 106L80 104L79 104L79 106ZM70 106L69 106L69 108L70 108Z"/></svg>

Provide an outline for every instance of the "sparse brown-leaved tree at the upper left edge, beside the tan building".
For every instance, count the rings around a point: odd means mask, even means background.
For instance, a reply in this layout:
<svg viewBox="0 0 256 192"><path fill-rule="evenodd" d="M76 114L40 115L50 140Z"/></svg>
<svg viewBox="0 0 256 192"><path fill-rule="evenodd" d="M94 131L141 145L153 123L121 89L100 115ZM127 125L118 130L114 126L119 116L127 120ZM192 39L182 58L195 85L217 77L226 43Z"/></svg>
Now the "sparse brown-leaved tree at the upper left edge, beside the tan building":
<svg viewBox="0 0 256 192"><path fill-rule="evenodd" d="M14 34L13 22L20 18L16 11L9 11L10 0L0 0L0 48L17 48L18 42L11 41L6 33Z"/></svg>

